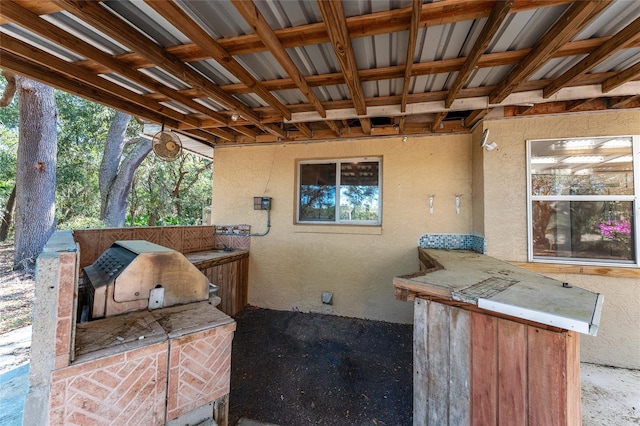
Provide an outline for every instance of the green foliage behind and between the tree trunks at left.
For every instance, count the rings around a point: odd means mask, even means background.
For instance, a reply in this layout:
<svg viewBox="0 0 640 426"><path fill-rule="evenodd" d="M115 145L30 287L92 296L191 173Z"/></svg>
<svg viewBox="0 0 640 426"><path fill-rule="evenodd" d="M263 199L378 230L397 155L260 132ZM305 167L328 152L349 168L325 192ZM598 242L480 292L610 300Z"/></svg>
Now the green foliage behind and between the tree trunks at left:
<svg viewBox="0 0 640 426"><path fill-rule="evenodd" d="M6 81L0 77L0 93ZM56 216L59 229L98 228L98 173L104 143L115 111L68 93L56 91L58 165ZM18 145L18 103L0 108L0 210L15 184ZM143 126L132 119L127 138ZM125 153L129 148L125 148ZM180 176L183 176L178 188ZM138 168L130 195L127 224L194 225L211 199L211 161L192 154L168 163L153 153Z"/></svg>

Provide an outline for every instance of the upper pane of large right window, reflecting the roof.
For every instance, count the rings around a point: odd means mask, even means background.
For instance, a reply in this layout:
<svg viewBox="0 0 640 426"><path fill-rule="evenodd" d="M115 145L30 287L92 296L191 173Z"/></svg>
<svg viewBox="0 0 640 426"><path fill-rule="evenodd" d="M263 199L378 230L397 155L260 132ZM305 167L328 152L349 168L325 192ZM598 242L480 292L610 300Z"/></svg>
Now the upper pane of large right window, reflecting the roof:
<svg viewBox="0 0 640 426"><path fill-rule="evenodd" d="M630 137L533 141L532 195L633 195Z"/></svg>

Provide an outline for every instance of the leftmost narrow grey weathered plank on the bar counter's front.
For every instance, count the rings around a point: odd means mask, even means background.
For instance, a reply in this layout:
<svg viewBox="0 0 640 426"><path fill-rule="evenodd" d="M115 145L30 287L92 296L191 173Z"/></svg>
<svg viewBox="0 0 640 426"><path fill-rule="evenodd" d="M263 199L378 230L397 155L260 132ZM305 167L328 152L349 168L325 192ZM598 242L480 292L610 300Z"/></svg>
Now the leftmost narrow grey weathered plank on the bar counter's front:
<svg viewBox="0 0 640 426"><path fill-rule="evenodd" d="M413 425L426 426L429 402L427 380L428 301L417 297L413 304Z"/></svg>

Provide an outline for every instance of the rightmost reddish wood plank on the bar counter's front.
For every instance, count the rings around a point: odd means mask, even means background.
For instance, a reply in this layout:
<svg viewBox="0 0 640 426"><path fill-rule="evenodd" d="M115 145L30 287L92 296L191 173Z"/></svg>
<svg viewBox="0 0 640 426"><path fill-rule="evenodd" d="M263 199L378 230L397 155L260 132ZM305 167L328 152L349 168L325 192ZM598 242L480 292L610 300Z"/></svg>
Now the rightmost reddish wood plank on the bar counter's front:
<svg viewBox="0 0 640 426"><path fill-rule="evenodd" d="M566 335L566 332L529 328L530 425L567 425Z"/></svg>

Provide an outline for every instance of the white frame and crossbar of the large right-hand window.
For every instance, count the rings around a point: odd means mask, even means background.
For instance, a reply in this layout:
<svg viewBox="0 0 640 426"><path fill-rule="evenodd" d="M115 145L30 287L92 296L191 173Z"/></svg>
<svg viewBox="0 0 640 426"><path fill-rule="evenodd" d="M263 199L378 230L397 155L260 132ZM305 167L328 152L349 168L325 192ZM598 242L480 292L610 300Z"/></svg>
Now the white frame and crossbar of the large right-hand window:
<svg viewBox="0 0 640 426"><path fill-rule="evenodd" d="M633 195L532 195L531 185L531 146L537 141L570 140L570 139L600 139L606 137L624 137L632 139L633 153ZM613 136L585 136L553 139L530 139L526 141L527 158L527 251L528 261L537 263L562 263L591 266L611 266L640 268L640 135L613 135ZM633 229L635 241L634 261L607 261L598 259L574 259L565 257L535 257L533 254L533 202L534 201L630 201L633 208Z"/></svg>

